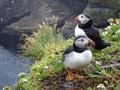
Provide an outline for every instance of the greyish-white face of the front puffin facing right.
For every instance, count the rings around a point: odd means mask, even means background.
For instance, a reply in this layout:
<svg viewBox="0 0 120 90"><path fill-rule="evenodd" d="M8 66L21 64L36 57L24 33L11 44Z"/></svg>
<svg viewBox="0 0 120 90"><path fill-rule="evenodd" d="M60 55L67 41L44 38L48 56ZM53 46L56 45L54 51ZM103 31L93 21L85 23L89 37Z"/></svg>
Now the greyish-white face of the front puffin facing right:
<svg viewBox="0 0 120 90"><path fill-rule="evenodd" d="M84 48L89 44L89 39L87 37L80 37L75 40L75 45L80 48Z"/></svg>

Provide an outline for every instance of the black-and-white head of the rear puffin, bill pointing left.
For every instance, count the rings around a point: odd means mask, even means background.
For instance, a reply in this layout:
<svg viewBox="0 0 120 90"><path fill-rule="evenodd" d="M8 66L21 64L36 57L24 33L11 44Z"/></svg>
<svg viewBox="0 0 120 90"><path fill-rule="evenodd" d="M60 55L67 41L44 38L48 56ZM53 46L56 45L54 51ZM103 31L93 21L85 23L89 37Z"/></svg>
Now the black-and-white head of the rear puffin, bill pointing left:
<svg viewBox="0 0 120 90"><path fill-rule="evenodd" d="M88 13L82 13L75 17L75 21L78 22L79 26L83 28L92 26L92 17Z"/></svg>

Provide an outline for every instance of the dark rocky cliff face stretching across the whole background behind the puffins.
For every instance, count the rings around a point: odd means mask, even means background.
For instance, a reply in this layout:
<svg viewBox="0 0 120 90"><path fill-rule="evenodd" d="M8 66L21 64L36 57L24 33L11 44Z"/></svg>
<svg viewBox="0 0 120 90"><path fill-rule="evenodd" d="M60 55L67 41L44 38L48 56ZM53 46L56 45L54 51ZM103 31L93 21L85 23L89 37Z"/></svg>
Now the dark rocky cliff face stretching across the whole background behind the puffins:
<svg viewBox="0 0 120 90"><path fill-rule="evenodd" d="M84 9L84 12L87 11L92 16L96 16L97 21L111 15L117 16L120 2L119 0L110 1L0 0L0 45L16 48L22 33L32 34L38 24L46 17L50 18L53 15L59 16L59 19L65 19L67 22L67 26L63 29L64 35L67 37L74 29L73 17Z"/></svg>

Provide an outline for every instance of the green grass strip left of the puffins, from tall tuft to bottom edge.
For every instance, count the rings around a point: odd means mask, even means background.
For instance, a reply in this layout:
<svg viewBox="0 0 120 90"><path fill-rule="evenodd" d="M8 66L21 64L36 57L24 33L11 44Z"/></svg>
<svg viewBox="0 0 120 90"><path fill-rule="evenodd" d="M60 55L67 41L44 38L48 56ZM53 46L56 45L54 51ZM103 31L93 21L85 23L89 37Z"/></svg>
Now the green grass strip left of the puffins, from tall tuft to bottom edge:
<svg viewBox="0 0 120 90"><path fill-rule="evenodd" d="M62 52L73 40L64 40L61 34L56 38L53 33L54 27L43 23L37 32L26 38L23 55L32 57L35 63L31 67L29 76L20 79L15 86L15 90L22 90L22 88L25 90L40 90L39 83L41 80L63 71Z"/></svg>

